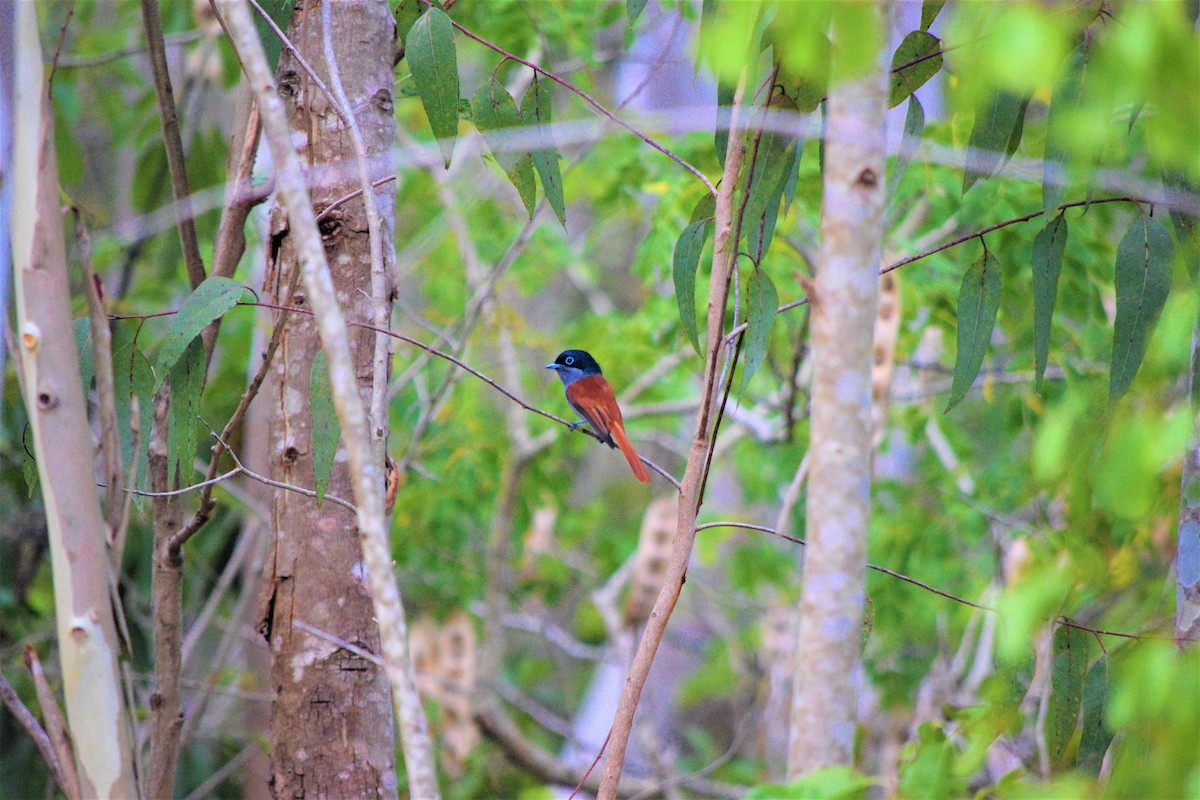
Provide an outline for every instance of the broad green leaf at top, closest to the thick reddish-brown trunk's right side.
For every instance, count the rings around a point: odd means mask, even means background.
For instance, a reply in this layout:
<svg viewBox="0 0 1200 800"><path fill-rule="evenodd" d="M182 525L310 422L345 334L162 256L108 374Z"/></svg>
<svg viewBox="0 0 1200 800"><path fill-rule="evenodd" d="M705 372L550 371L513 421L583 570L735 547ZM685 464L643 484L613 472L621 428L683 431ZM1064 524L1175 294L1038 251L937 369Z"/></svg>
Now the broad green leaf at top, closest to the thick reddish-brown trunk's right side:
<svg viewBox="0 0 1200 800"><path fill-rule="evenodd" d="M413 23L404 43L413 83L442 149L442 158L450 167L458 136L458 56L450 17L440 8L430 8Z"/></svg>

